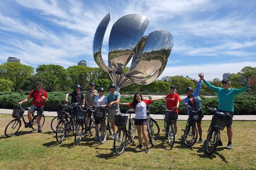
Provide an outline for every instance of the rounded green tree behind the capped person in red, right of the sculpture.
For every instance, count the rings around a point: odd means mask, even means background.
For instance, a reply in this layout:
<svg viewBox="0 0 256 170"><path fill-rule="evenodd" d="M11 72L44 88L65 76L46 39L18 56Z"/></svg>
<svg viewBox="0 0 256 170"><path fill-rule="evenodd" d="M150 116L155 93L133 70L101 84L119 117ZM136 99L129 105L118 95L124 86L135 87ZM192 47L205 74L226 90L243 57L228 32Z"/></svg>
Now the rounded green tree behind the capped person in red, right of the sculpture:
<svg viewBox="0 0 256 170"><path fill-rule="evenodd" d="M193 81L178 75L170 77L169 83L175 86L177 92L186 92L187 87L192 87L192 89L196 89Z"/></svg>

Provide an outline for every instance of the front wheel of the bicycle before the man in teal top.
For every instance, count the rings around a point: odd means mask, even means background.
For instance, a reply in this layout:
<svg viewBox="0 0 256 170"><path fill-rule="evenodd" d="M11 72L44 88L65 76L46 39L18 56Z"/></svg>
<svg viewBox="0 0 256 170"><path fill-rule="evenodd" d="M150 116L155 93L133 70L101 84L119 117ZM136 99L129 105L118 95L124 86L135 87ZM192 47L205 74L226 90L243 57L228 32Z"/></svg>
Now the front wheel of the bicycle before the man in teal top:
<svg viewBox="0 0 256 170"><path fill-rule="evenodd" d="M207 155L211 155L214 153L215 149L217 148L219 143L219 131L211 130L210 133L207 136L206 142L205 142L205 150Z"/></svg>

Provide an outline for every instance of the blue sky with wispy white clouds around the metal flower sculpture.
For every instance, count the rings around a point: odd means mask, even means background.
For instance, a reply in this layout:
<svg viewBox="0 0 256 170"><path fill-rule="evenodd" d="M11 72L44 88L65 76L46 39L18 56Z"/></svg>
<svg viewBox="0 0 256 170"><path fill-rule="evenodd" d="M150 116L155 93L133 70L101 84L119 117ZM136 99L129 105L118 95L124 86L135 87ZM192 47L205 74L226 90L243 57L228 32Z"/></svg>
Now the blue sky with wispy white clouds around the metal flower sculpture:
<svg viewBox="0 0 256 170"><path fill-rule="evenodd" d="M1 0L0 63L17 57L37 68L64 68L92 56L92 40L101 19L110 12L102 46L107 63L108 38L118 18L139 13L150 21L144 35L165 29L174 38L164 76L188 75L222 79L245 66L256 67L256 2L254 0Z"/></svg>

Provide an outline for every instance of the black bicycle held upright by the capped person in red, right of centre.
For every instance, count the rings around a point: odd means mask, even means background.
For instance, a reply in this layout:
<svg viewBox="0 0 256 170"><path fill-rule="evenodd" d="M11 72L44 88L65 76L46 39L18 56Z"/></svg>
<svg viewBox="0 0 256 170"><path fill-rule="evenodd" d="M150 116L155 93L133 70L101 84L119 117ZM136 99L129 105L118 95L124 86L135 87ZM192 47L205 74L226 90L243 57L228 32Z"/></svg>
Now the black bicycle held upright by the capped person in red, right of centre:
<svg viewBox="0 0 256 170"><path fill-rule="evenodd" d="M176 108L172 108L172 110L167 110L164 105L159 106L160 108L165 109L164 112L164 129L162 129L163 132L165 132L165 136L168 139L168 144L170 147L174 146L175 142L175 129L174 129L174 121L177 121L178 115L177 112L173 112L173 110Z"/></svg>

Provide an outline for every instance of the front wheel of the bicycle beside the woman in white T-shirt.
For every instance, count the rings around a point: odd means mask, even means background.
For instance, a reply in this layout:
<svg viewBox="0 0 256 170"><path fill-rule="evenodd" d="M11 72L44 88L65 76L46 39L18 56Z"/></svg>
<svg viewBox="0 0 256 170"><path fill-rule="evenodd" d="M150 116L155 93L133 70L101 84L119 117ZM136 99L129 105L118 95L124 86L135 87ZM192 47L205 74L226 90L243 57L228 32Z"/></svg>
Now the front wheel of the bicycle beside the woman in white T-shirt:
<svg viewBox="0 0 256 170"><path fill-rule="evenodd" d="M126 133L124 132L124 128L118 129L116 135L114 137L114 152L117 155L121 155L124 152L126 147Z"/></svg>

